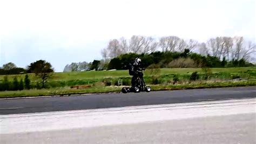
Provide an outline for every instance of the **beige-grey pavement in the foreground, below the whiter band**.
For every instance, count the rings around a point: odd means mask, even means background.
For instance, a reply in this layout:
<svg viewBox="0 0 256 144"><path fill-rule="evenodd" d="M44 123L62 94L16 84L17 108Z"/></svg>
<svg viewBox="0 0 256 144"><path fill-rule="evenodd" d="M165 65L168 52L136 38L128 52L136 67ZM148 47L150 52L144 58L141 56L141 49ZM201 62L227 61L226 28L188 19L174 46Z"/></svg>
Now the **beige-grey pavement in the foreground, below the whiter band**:
<svg viewBox="0 0 256 144"><path fill-rule="evenodd" d="M235 119L235 120L234 120ZM2 135L1 143L256 143L255 114ZM254 126L253 126L254 125Z"/></svg>

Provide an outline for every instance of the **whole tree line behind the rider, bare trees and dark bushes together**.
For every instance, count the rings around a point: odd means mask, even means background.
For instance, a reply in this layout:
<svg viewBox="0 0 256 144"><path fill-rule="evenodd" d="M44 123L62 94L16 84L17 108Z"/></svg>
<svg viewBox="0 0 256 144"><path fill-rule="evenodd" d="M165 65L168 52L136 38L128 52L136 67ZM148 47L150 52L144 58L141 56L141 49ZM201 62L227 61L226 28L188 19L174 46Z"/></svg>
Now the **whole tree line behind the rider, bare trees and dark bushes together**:
<svg viewBox="0 0 256 144"><path fill-rule="evenodd" d="M102 60L73 62L66 65L64 72L126 69L134 56L141 57L147 67L248 67L254 66L250 60L255 52L255 43L243 37L216 37L200 43L176 36L156 39L133 35L130 39L111 39L101 51Z"/></svg>

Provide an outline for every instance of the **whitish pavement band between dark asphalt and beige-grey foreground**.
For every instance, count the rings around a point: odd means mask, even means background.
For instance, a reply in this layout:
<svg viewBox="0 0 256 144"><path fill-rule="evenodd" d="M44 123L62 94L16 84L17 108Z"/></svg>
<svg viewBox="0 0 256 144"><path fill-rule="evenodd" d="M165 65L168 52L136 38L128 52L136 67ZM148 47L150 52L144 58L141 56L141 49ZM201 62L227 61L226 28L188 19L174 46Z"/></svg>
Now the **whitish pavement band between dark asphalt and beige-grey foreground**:
<svg viewBox="0 0 256 144"><path fill-rule="evenodd" d="M0 115L0 134L256 113L256 98Z"/></svg>

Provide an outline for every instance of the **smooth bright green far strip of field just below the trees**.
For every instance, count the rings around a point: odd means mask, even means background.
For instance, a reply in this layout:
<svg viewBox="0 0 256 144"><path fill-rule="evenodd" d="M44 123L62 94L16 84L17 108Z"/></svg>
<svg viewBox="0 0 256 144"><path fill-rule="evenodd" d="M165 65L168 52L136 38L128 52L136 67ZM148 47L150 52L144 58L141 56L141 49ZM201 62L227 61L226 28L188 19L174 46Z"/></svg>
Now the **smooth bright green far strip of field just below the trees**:
<svg viewBox="0 0 256 144"><path fill-rule="evenodd" d="M230 74L239 74L247 70L256 71L256 67L246 67L246 68L211 68L212 73L230 73ZM201 68L163 68L160 69L159 75L166 74L187 74L198 71L202 73ZM150 70L145 71L145 76L152 76ZM4 75L0 75L0 80L3 80ZM25 78L24 74L21 75L9 75L9 80L13 80L14 77ZM38 78L35 74L29 74L30 80L35 82ZM130 77L127 70L116 70L116 71L81 71L81 72L70 72L70 73L54 73L51 81L70 81L70 80L83 80L83 79L102 79L102 78L116 78L116 77Z"/></svg>

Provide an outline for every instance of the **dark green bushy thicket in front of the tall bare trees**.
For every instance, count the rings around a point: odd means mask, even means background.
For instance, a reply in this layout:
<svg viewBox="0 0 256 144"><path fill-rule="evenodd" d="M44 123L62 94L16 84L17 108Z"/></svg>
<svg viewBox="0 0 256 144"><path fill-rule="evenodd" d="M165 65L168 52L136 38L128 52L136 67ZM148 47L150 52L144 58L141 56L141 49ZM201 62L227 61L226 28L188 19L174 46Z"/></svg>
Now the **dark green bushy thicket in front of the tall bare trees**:
<svg viewBox="0 0 256 144"><path fill-rule="evenodd" d="M135 57L142 59L142 64L147 68L224 68L224 67L252 67L253 63L244 59L227 61L220 60L217 56L204 56L184 49L184 52L154 52L150 54L122 54L113 58L108 69L128 69L131 60Z"/></svg>

